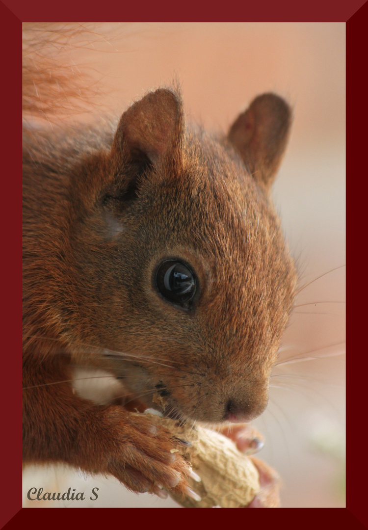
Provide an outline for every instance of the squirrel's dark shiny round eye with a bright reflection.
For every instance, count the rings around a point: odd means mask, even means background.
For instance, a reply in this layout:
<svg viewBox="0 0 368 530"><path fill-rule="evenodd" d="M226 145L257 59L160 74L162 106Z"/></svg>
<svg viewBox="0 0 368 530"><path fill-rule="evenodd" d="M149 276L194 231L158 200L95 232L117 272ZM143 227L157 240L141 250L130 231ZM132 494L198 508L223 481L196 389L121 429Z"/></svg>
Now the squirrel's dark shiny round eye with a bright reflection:
<svg viewBox="0 0 368 530"><path fill-rule="evenodd" d="M194 273L188 265L177 260L166 260L156 271L156 288L159 293L173 304L184 308L190 306L197 290Z"/></svg>

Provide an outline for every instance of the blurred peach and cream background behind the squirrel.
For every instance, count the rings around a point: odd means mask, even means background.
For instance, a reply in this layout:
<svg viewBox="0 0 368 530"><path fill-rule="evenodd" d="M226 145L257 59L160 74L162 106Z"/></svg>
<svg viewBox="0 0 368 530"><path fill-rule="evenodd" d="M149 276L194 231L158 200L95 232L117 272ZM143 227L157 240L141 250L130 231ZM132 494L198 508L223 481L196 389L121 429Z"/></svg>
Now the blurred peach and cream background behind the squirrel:
<svg viewBox="0 0 368 530"><path fill-rule="evenodd" d="M345 506L345 23L90 28L89 45L65 46L66 60L89 68L109 113L121 114L147 89L174 79L187 119L210 129L226 130L262 92L292 103L292 136L273 196L306 287L281 347L281 362L290 362L275 368L269 407L255 422L266 436L259 456L282 477L284 507ZM31 487L100 489L96 501L42 503L27 500ZM24 492L27 507L177 507L61 467L29 469Z"/></svg>

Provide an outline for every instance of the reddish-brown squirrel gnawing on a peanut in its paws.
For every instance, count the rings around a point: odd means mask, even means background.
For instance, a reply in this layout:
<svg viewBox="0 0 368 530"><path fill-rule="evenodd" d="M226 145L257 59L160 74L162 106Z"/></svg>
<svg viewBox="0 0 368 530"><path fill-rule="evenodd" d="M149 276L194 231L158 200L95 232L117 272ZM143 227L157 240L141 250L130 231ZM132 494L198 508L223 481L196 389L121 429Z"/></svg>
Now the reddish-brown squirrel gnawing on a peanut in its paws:
<svg viewBox="0 0 368 530"><path fill-rule="evenodd" d="M264 411L296 293L270 198L290 125L288 104L263 94L213 136L186 122L179 90L160 88L104 130L25 126L25 463L186 491L170 434L77 395L74 367L107 370L127 402L157 409L159 393L181 421Z"/></svg>

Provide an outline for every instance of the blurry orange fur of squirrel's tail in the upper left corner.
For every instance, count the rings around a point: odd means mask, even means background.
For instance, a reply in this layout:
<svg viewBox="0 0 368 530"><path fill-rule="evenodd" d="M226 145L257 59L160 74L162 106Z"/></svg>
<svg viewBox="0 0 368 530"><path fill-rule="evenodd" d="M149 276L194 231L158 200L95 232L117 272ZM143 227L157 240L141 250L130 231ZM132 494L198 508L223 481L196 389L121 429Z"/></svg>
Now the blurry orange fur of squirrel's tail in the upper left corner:
<svg viewBox="0 0 368 530"><path fill-rule="evenodd" d="M100 38L89 25L23 24L23 118L52 121L91 109L97 89L73 51Z"/></svg>

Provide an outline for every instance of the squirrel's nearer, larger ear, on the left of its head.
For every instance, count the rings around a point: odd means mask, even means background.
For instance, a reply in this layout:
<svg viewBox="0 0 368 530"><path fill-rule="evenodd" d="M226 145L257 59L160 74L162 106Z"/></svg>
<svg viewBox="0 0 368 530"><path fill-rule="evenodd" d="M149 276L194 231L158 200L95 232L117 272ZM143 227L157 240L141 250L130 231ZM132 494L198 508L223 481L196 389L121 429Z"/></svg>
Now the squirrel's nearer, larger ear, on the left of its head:
<svg viewBox="0 0 368 530"><path fill-rule="evenodd" d="M150 92L122 114L112 153L132 162L170 163L180 171L184 118L180 96Z"/></svg>

